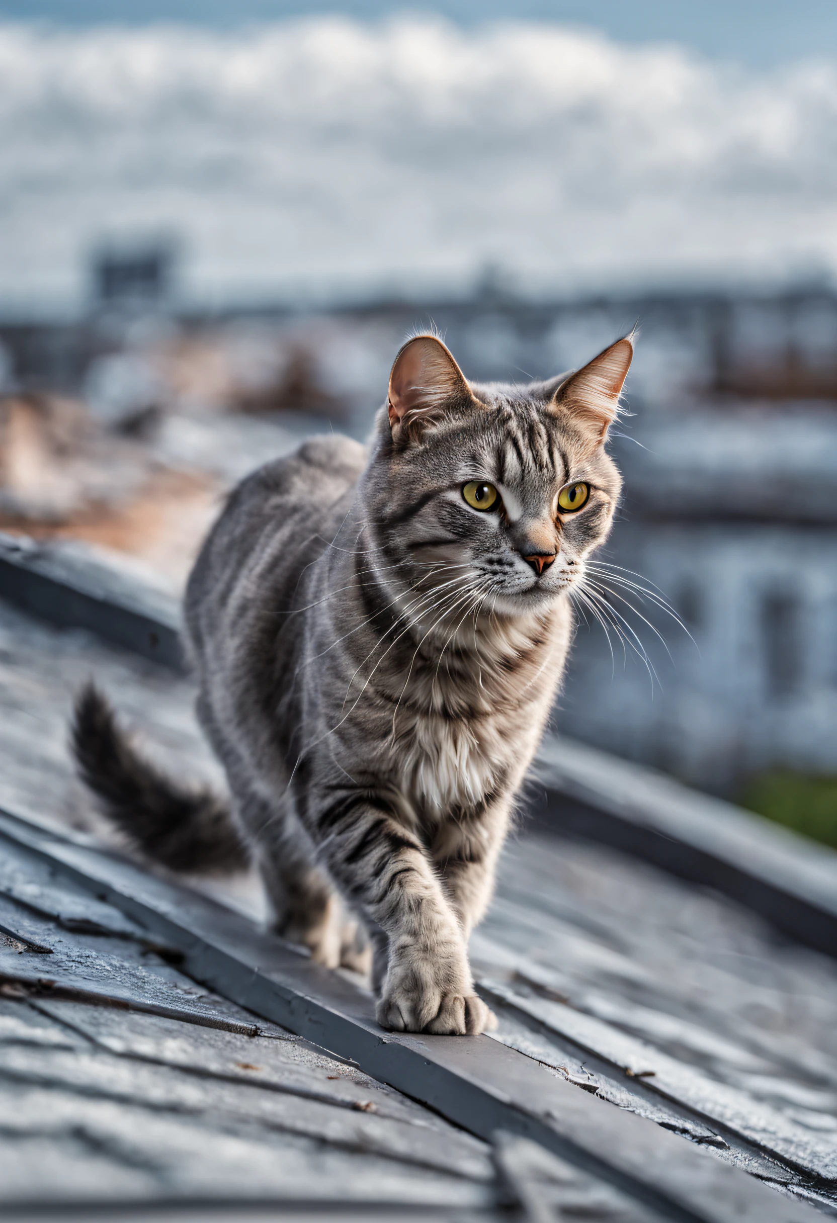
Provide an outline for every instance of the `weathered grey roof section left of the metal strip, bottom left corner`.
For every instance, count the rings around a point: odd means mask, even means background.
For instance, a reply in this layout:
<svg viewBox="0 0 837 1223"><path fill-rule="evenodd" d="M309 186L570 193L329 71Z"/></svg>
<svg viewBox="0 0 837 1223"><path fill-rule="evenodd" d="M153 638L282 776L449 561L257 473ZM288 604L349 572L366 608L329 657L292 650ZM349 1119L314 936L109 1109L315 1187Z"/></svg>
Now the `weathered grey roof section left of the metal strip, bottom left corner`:
<svg viewBox="0 0 837 1223"><path fill-rule="evenodd" d="M492 1205L485 1142L197 986L173 949L7 840L0 943L6 1206Z"/></svg>

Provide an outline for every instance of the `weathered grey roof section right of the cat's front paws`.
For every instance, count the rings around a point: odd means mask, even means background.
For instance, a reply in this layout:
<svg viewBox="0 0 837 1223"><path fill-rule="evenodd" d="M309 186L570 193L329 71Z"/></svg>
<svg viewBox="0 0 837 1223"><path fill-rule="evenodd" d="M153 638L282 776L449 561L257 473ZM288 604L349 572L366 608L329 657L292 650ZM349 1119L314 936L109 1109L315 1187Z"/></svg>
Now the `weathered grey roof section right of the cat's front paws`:
<svg viewBox="0 0 837 1223"><path fill-rule="evenodd" d="M795 1167L837 1185L833 961L543 837L509 846L472 958L496 1038L765 1179Z"/></svg>

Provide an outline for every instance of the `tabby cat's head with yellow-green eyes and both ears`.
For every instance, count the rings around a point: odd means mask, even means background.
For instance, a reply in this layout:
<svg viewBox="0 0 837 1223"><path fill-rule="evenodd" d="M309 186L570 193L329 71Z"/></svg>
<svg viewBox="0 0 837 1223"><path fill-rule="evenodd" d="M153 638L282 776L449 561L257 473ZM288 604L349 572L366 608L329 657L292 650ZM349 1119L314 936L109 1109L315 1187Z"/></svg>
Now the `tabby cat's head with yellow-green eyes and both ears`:
<svg viewBox="0 0 837 1223"><path fill-rule="evenodd" d="M520 615L575 585L606 538L622 481L604 450L633 357L617 340L582 369L510 386L469 383L433 335L409 340L389 378L367 472L388 572L418 598Z"/></svg>

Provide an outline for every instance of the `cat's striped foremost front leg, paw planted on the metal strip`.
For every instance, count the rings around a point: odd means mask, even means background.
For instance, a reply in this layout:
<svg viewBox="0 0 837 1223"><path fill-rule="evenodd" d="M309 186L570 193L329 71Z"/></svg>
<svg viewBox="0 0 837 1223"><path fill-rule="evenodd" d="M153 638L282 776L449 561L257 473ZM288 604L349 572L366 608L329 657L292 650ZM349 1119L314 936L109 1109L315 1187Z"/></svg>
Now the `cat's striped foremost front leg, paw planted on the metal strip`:
<svg viewBox="0 0 837 1223"><path fill-rule="evenodd" d="M447 1036L483 1031L489 1011L474 991L461 925L418 839L368 791L332 801L317 829L332 877L370 928L385 936L382 1027Z"/></svg>

